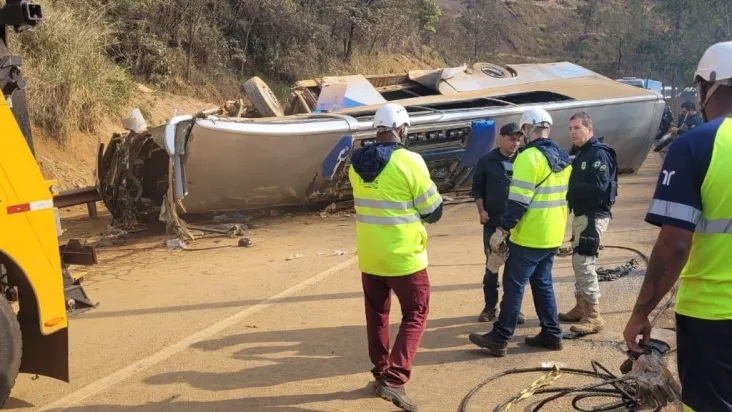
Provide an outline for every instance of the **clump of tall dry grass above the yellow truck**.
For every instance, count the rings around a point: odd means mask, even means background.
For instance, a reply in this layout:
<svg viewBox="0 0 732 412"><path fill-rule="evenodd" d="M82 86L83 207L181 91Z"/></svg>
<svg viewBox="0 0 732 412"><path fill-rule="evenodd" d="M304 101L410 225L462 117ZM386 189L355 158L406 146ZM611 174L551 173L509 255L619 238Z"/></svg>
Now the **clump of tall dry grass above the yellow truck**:
<svg viewBox="0 0 732 412"><path fill-rule="evenodd" d="M13 40L23 56L31 120L65 142L71 133L93 133L102 120L117 116L134 83L105 54L114 35L100 13L46 2L43 14L41 25Z"/></svg>

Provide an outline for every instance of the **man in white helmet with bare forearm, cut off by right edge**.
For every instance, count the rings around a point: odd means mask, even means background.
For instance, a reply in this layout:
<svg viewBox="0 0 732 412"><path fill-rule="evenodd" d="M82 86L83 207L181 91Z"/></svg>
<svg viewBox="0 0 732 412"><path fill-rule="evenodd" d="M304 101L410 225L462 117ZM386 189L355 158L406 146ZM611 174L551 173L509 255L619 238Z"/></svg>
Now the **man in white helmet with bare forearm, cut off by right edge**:
<svg viewBox="0 0 732 412"><path fill-rule="evenodd" d="M642 352L648 316L680 277L676 340L685 410L732 411L732 42L706 50L695 81L707 123L669 147L645 218L661 231L623 334L630 351Z"/></svg>

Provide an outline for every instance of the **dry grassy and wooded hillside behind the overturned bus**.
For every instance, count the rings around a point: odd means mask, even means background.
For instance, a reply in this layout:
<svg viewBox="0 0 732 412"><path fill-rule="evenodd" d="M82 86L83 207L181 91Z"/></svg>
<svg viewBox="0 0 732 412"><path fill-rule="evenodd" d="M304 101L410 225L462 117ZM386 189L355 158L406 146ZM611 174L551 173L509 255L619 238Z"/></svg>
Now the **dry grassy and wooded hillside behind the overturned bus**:
<svg viewBox="0 0 732 412"><path fill-rule="evenodd" d="M254 75L283 96L323 74L479 60L685 84L708 45L732 38L729 0L40 2L46 23L19 37L32 118L60 137L92 130L129 97L130 77L212 101L239 97Z"/></svg>

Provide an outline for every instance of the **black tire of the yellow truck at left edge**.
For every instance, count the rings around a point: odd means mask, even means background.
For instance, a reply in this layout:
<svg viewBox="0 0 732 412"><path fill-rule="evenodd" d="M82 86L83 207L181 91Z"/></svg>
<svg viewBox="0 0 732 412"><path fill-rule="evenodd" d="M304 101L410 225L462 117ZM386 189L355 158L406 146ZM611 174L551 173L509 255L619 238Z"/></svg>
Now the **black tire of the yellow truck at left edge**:
<svg viewBox="0 0 732 412"><path fill-rule="evenodd" d="M0 408L10 397L20 370L23 343L18 318L10 303L0 298Z"/></svg>

